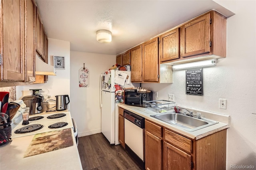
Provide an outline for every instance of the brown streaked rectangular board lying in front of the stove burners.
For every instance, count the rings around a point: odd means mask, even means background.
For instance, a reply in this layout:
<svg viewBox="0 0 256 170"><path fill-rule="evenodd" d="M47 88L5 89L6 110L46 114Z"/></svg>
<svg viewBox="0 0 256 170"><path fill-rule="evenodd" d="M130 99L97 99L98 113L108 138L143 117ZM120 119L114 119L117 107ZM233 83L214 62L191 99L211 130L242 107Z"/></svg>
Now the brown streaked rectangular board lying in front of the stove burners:
<svg viewBox="0 0 256 170"><path fill-rule="evenodd" d="M24 158L73 146L72 128L35 134Z"/></svg>

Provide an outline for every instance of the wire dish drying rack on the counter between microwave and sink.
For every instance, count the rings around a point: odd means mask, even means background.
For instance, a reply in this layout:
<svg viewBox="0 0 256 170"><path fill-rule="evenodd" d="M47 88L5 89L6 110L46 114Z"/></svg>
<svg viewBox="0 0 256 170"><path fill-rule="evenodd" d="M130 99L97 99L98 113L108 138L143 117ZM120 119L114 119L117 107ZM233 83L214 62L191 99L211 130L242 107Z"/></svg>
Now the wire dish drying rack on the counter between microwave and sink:
<svg viewBox="0 0 256 170"><path fill-rule="evenodd" d="M162 113L174 110L175 102L167 100L145 101L146 110Z"/></svg>

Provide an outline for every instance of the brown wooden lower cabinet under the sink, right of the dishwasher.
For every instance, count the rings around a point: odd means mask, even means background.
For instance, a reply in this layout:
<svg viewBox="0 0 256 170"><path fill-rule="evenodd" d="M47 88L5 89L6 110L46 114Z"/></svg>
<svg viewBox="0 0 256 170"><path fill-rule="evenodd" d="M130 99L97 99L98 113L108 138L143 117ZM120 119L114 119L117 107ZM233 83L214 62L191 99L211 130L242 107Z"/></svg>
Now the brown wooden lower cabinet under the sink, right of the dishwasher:
<svg viewBox="0 0 256 170"><path fill-rule="evenodd" d="M226 129L198 140L145 120L146 170L225 170Z"/></svg>

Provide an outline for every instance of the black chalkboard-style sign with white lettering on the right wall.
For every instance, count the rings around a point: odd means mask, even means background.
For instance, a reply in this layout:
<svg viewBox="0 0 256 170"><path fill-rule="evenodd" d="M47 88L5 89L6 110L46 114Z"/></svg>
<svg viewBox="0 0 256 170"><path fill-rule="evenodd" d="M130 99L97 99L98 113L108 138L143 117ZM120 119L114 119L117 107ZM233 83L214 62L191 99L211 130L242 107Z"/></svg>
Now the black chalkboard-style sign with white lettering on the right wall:
<svg viewBox="0 0 256 170"><path fill-rule="evenodd" d="M203 69L186 70L186 94L203 95Z"/></svg>

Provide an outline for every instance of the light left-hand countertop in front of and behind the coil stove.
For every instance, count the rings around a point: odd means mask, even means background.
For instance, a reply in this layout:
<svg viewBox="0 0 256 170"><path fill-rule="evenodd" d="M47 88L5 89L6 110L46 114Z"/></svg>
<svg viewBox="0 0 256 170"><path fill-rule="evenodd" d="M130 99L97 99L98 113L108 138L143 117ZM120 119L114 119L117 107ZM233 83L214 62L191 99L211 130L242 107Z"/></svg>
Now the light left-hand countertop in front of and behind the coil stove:
<svg viewBox="0 0 256 170"><path fill-rule="evenodd" d="M68 111L68 110L66 110ZM59 111L65 112L65 111ZM58 113L43 112L36 115ZM74 133L72 138L74 145L51 152L23 158L34 135L13 138L12 142L0 146L1 170L82 170L82 164L76 146Z"/></svg>

